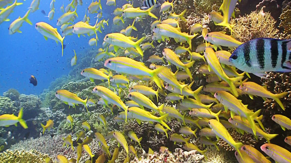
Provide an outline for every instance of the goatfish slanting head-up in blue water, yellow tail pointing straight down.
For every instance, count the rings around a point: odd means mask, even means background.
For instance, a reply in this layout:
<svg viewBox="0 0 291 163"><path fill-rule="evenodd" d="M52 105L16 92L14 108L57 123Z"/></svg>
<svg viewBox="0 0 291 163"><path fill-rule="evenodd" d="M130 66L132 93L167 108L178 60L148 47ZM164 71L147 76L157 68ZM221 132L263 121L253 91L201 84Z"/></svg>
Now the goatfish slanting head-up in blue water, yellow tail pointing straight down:
<svg viewBox="0 0 291 163"><path fill-rule="evenodd" d="M62 56L63 56L63 52L64 52L63 42L64 42L65 37L62 37L60 35L57 28L53 28L47 23L39 22L39 23L36 23L36 30L43 35L45 40L47 40L47 38L50 38L50 39L55 40L57 43L59 41L62 44Z"/></svg>

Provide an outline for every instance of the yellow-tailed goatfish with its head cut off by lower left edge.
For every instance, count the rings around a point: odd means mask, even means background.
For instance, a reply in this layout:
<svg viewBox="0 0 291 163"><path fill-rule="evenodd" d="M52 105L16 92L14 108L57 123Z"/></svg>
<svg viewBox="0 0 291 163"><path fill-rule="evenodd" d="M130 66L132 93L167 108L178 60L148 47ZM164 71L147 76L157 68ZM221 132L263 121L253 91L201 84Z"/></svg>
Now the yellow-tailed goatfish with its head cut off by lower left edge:
<svg viewBox="0 0 291 163"><path fill-rule="evenodd" d="M15 125L17 126L17 122L20 123L20 125L27 129L27 124L25 122L25 120L22 119L23 116L23 108L20 109L18 116L15 116L14 114L3 114L0 115L0 126L11 126L11 125Z"/></svg>

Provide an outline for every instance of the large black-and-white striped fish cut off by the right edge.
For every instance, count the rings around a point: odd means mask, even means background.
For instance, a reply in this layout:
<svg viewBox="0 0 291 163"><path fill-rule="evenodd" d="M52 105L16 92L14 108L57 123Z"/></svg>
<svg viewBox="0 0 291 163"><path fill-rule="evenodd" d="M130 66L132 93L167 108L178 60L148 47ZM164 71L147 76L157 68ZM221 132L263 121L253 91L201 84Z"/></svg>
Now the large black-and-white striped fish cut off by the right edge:
<svg viewBox="0 0 291 163"><path fill-rule="evenodd" d="M264 72L291 72L291 39L257 38L231 54L229 61L245 72L263 77Z"/></svg>

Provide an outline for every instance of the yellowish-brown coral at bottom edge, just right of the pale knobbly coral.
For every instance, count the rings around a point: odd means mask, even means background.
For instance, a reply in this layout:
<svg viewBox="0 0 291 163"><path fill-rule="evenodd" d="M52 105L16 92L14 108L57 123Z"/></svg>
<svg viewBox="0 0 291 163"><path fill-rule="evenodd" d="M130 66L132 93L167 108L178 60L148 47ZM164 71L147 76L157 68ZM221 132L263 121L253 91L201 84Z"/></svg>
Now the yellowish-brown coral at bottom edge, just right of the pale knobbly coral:
<svg viewBox="0 0 291 163"><path fill-rule="evenodd" d="M202 160L202 163L237 163L234 151L226 151L221 148L218 151L215 146L207 147L205 156L207 160Z"/></svg>

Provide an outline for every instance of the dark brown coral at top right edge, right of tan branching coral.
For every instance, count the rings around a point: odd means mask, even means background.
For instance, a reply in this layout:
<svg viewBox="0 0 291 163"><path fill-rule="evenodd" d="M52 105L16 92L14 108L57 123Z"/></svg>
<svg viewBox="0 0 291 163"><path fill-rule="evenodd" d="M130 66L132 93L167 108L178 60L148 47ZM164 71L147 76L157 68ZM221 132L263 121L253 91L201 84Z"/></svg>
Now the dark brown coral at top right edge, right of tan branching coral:
<svg viewBox="0 0 291 163"><path fill-rule="evenodd" d="M280 15L279 27L284 28L284 33L291 34L291 5L286 6Z"/></svg>

